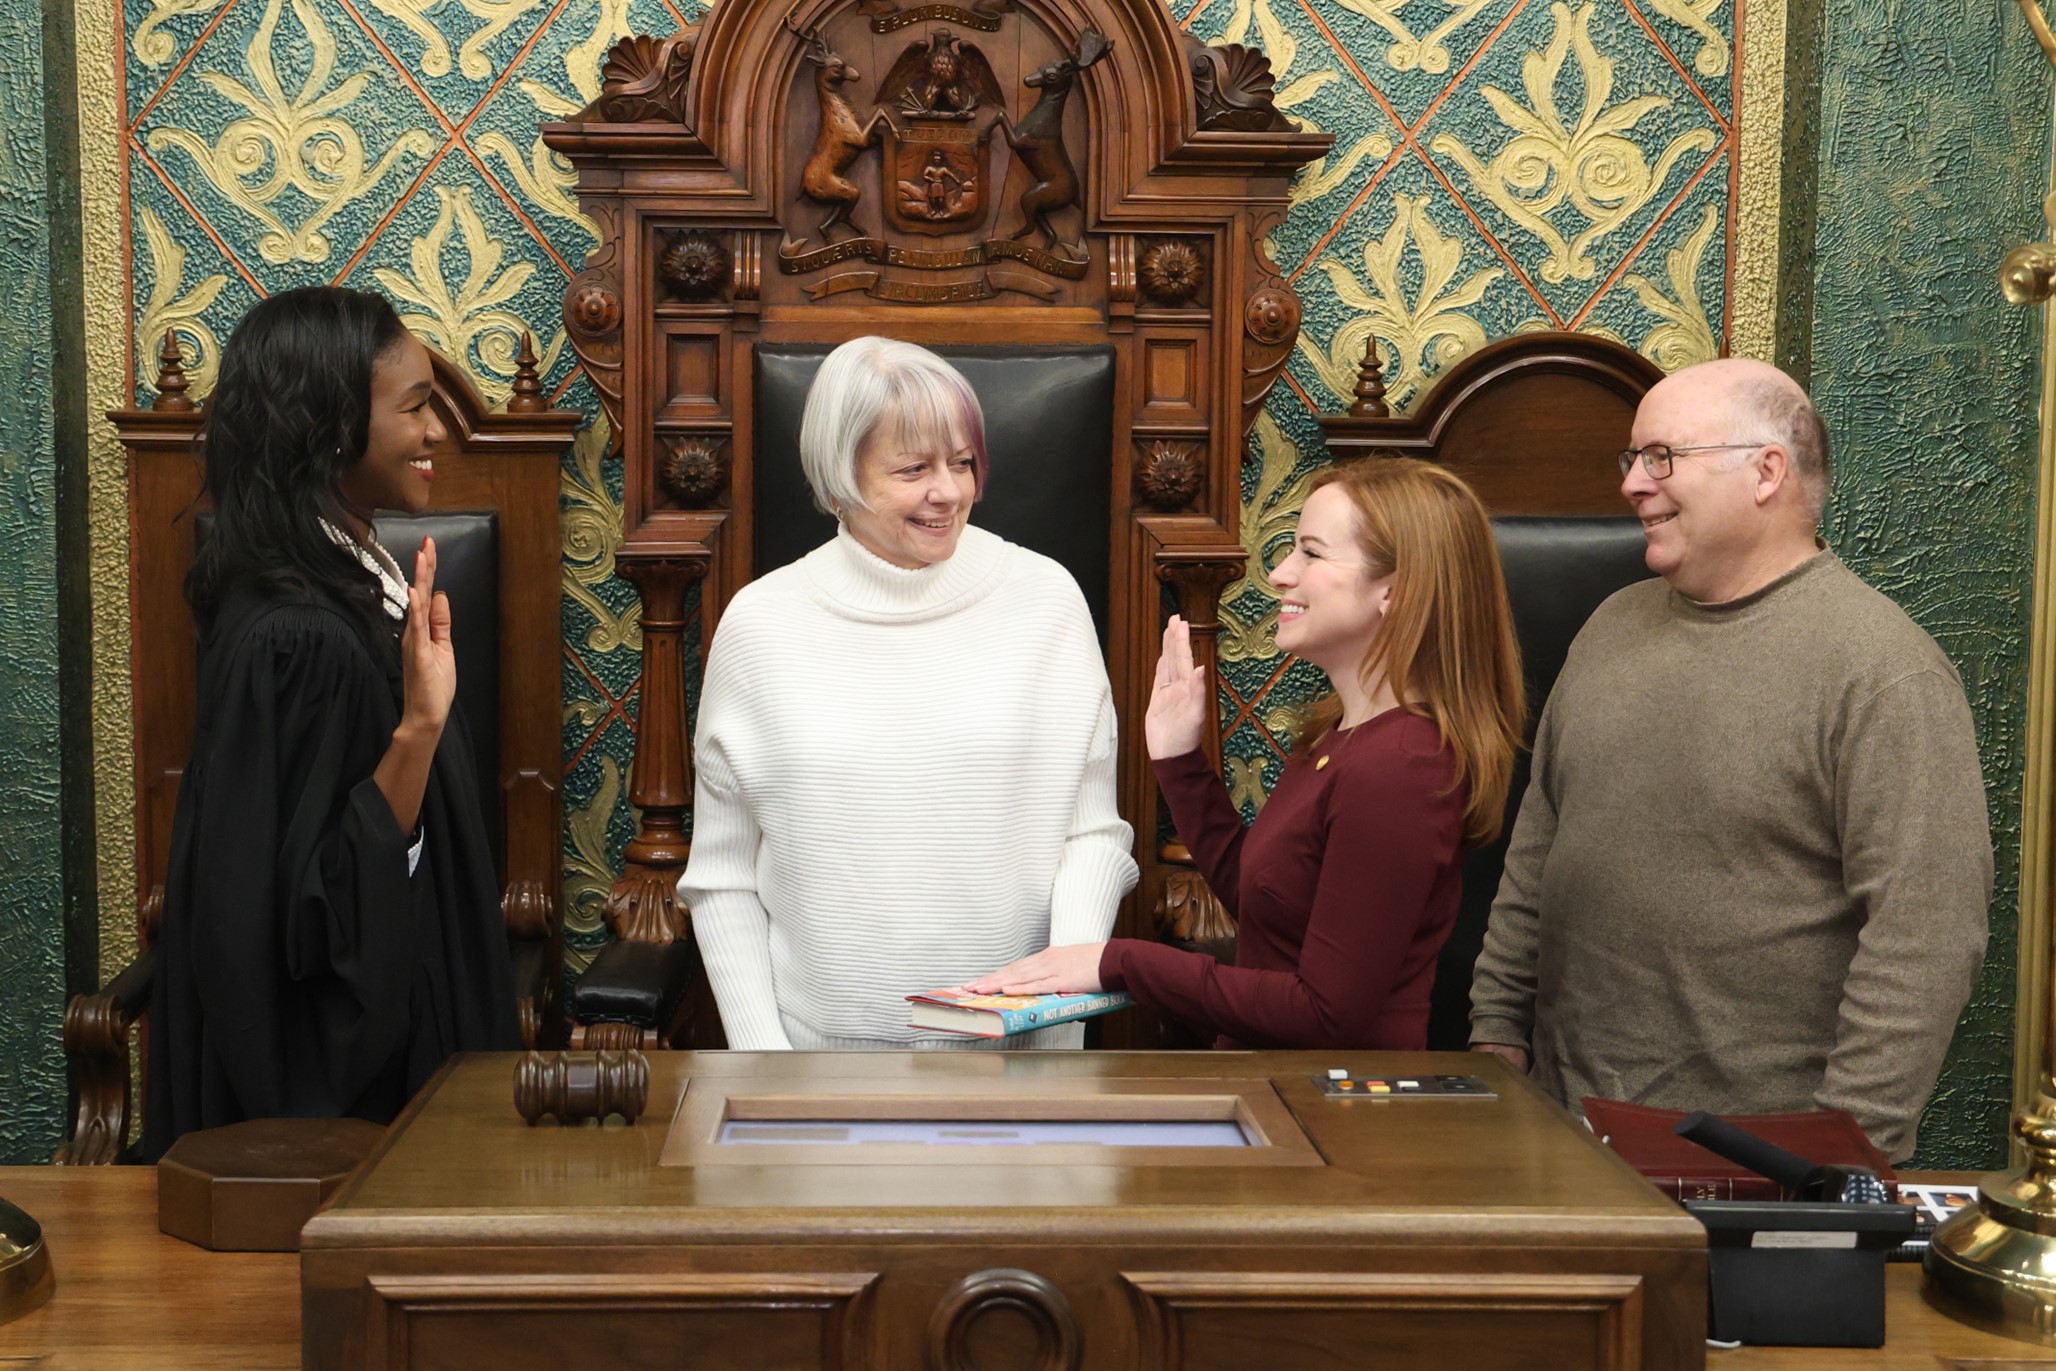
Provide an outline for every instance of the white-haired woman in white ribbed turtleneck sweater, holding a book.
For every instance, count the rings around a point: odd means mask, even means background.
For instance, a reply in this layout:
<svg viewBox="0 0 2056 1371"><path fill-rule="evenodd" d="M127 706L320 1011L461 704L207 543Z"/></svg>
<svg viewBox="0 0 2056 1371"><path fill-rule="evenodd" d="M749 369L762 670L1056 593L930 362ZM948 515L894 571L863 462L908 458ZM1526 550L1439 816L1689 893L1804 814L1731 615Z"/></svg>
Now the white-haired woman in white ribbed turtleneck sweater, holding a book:
<svg viewBox="0 0 2056 1371"><path fill-rule="evenodd" d="M693 742L678 894L728 1046L991 1046L907 1028L903 997L1104 939L1135 886L1092 617L968 524L985 415L925 347L831 351L800 460L835 539L728 604Z"/></svg>

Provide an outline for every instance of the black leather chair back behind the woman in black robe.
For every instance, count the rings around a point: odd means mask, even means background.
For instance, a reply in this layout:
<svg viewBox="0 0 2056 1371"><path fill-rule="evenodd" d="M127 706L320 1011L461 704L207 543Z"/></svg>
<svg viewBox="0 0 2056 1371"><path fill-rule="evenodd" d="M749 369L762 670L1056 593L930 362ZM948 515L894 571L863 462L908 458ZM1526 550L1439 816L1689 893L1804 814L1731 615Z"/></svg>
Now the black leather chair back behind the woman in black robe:
<svg viewBox="0 0 2056 1371"><path fill-rule="evenodd" d="M193 516L193 551L214 532L214 510ZM372 534L393 553L401 576L413 576L421 539L436 541L436 588L450 596L450 637L456 641L456 703L471 728L479 765L479 810L493 839L493 863L506 872L500 822L500 514L493 510L432 510L380 514ZM551 643L555 652L555 643Z"/></svg>

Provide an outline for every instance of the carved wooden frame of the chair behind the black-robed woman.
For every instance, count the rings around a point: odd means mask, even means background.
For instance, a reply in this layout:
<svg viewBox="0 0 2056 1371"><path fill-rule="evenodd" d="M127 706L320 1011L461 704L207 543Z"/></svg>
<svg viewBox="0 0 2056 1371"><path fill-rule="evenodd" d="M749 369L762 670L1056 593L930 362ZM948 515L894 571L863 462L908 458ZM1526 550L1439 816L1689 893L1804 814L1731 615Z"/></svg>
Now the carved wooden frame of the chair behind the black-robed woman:
<svg viewBox="0 0 2056 1371"><path fill-rule="evenodd" d="M489 411L463 372L430 349L430 403L448 438L436 450L434 506L378 520L391 547L434 536L438 586L458 625L458 699L479 754L487 830L504 878L516 1001L528 1046L561 1040L561 680L557 625L561 539L557 471L580 415L549 409L526 339L514 395ZM156 401L107 417L127 448L130 670L136 691L136 888L140 952L95 995L64 1011L76 1096L60 1163L115 1161L130 1131L130 1032L150 1007L156 925L171 861L171 820L193 736L197 639L185 571L206 510L177 343L167 335ZM495 822L498 820L498 822ZM144 1063L148 1071L148 1063Z"/></svg>

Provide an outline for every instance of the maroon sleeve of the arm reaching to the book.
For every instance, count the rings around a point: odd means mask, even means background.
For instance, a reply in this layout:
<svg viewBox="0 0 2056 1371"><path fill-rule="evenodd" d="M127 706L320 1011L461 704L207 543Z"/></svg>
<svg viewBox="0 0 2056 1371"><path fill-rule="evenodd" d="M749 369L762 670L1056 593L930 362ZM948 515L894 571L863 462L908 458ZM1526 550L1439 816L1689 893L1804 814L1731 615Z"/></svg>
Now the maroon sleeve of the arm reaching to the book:
<svg viewBox="0 0 2056 1371"><path fill-rule="evenodd" d="M1435 880L1456 861L1462 824L1449 820L1452 810L1462 812L1462 795L1445 793L1445 754L1375 750L1338 771L1322 812L1320 880L1295 970L1221 966L1205 954L1121 937L1100 956L1100 983L1248 1046L1375 1042Z"/></svg>

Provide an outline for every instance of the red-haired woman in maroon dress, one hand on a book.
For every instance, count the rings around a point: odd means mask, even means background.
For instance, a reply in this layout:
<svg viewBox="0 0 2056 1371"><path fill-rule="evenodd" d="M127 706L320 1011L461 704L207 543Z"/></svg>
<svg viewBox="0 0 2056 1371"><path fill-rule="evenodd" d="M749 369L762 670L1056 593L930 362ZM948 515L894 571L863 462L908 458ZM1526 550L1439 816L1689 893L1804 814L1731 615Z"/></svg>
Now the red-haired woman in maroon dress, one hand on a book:
<svg viewBox="0 0 2056 1371"><path fill-rule="evenodd" d="M1423 1048L1462 894L1499 832L1521 664L1484 506L1410 458L1324 473L1271 573L1281 650L1328 674L1256 822L1201 750L1213 687L1164 629L1145 736L1178 837L1238 919L1236 964L1116 937L1049 948L979 993L1129 991L1219 1046Z"/></svg>

